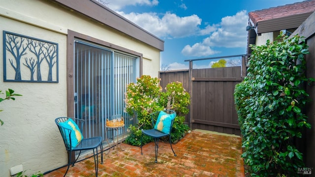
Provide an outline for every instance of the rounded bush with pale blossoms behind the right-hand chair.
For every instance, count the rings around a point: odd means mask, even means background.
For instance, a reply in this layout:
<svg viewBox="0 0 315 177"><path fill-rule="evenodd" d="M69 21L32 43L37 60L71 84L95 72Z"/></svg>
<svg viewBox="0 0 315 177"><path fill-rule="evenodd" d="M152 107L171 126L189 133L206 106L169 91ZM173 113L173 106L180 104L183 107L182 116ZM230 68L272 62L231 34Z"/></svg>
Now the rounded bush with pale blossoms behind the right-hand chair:
<svg viewBox="0 0 315 177"><path fill-rule="evenodd" d="M126 143L140 145L141 129L151 129L152 120L150 114L163 109L172 109L177 113L172 130L172 141L180 139L189 130L184 124L185 115L189 112L189 93L183 88L181 82L169 83L165 92L159 85L158 78L150 75L142 75L137 78L137 83L127 85L125 112L129 115L136 114L139 124L130 126L130 135ZM143 143L152 142L152 139L143 137Z"/></svg>

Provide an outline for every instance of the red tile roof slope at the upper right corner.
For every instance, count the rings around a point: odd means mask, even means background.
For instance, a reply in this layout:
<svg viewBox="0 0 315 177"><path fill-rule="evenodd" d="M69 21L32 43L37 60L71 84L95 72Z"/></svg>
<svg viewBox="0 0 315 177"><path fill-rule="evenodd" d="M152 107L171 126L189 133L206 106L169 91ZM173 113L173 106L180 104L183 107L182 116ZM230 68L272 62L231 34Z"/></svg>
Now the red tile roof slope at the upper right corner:
<svg viewBox="0 0 315 177"><path fill-rule="evenodd" d="M310 13L315 11L315 0L305 0L268 9L256 10L249 13L249 17L256 26L257 22L282 18L285 16Z"/></svg>

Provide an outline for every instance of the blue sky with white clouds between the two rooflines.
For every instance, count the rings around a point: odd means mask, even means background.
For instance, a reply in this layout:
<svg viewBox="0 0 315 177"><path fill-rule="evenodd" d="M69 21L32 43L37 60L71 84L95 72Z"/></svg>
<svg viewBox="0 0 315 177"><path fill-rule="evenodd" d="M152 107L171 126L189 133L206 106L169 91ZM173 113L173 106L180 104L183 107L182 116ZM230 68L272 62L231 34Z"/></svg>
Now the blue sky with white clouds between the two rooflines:
<svg viewBox="0 0 315 177"><path fill-rule="evenodd" d="M303 0L101 0L163 39L161 64L188 69L185 60L246 54L248 13ZM194 62L211 67L217 60Z"/></svg>

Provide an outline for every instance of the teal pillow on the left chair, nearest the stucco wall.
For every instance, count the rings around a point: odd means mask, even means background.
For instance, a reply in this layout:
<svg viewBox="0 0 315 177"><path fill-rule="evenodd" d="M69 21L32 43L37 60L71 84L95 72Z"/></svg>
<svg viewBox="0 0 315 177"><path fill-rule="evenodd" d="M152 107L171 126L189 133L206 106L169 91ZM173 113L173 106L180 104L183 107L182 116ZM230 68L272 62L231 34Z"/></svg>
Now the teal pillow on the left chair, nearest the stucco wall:
<svg viewBox="0 0 315 177"><path fill-rule="evenodd" d="M70 138L69 138L69 132L67 129L71 130L71 149L74 149L82 140L83 135L78 127L78 125L72 120L68 119L64 122L60 122L59 125L65 129L65 136L67 140L67 145L70 146Z"/></svg>

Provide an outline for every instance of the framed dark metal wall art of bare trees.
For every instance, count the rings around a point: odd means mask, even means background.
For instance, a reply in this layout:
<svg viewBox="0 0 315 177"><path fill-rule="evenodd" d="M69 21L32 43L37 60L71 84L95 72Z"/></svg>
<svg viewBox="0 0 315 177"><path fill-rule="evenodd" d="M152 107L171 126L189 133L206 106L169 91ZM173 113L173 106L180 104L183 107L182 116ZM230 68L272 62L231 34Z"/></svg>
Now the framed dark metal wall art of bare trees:
<svg viewBox="0 0 315 177"><path fill-rule="evenodd" d="M3 80L58 82L58 44L3 31Z"/></svg>

